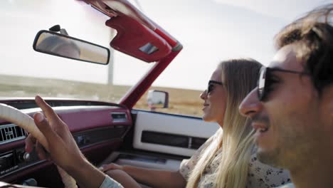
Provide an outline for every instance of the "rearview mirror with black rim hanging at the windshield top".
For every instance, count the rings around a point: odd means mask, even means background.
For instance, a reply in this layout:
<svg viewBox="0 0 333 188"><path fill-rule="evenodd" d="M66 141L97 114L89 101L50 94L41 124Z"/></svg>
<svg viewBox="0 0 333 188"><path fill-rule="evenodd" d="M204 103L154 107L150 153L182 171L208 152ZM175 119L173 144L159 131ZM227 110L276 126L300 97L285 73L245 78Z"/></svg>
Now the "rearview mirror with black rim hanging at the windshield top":
<svg viewBox="0 0 333 188"><path fill-rule="evenodd" d="M103 65L110 60L108 48L53 31L39 31L33 41L33 49L53 56Z"/></svg>

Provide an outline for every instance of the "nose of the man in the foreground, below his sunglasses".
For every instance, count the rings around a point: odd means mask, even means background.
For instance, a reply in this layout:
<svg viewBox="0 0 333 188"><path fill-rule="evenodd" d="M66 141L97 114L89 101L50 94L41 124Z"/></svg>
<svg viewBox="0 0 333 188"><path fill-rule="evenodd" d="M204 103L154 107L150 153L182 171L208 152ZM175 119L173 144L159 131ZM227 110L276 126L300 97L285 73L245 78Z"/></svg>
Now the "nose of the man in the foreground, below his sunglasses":
<svg viewBox="0 0 333 188"><path fill-rule="evenodd" d="M246 117L252 117L263 109L258 98L258 88L253 89L239 105L239 113Z"/></svg>

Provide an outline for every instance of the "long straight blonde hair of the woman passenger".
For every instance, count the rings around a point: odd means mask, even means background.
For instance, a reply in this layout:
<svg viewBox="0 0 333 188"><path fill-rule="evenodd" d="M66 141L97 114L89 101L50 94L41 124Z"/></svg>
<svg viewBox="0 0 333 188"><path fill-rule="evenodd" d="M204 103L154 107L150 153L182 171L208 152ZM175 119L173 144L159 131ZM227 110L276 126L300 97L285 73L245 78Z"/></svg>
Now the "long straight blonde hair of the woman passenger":
<svg viewBox="0 0 333 188"><path fill-rule="evenodd" d="M262 66L253 59L233 59L219 64L222 69L223 84L226 87L226 112L223 130L220 128L211 139L211 145L199 155L199 161L190 172L187 188L198 187L206 167L222 147L218 161L216 187L245 187L248 177L248 162L253 149L253 130L247 119L238 113L238 106L250 90L255 88L258 73Z"/></svg>

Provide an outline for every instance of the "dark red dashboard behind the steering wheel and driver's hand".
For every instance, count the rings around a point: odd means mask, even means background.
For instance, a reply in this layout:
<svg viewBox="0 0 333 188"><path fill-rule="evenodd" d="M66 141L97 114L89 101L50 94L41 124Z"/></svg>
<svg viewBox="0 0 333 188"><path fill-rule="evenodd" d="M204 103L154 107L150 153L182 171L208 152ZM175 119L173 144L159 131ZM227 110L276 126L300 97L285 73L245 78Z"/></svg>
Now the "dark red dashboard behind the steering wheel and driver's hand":
<svg viewBox="0 0 333 188"><path fill-rule="evenodd" d="M4 100L1 103L7 105L22 104L27 107L33 100ZM46 100L54 105L64 103L64 100ZM67 101L71 106L54 106L53 109L59 117L66 122L75 141L83 151L85 157L93 164L99 164L112 150L117 150L123 142L126 133L132 127L132 117L129 110L124 106L111 103L97 103L98 105L83 105L89 101ZM78 105L75 105L75 102ZM22 109L23 110L23 109ZM23 110L24 111L24 110ZM38 108L30 108L29 115L40 111ZM11 127L10 122L0 120L1 141L17 136L22 132L19 127ZM23 134L26 134L24 132ZM28 157L24 151L24 140L10 142L0 145L0 180L3 182L21 183L29 177L35 177L38 186L56 187L61 183L60 177L51 162L39 160L36 152L32 152ZM48 177L53 177L52 181L46 181L45 176L39 173L48 172ZM49 178L47 178L49 179Z"/></svg>

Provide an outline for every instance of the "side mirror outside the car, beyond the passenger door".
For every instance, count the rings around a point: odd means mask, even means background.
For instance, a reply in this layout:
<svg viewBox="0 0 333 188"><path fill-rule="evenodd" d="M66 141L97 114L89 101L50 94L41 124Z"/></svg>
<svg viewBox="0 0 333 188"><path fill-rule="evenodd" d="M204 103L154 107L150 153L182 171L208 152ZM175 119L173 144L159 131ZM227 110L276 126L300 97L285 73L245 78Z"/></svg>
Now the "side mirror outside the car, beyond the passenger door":
<svg viewBox="0 0 333 188"><path fill-rule="evenodd" d="M149 90L147 95L147 103L150 110L154 111L156 108L169 107L169 93L162 90Z"/></svg>

